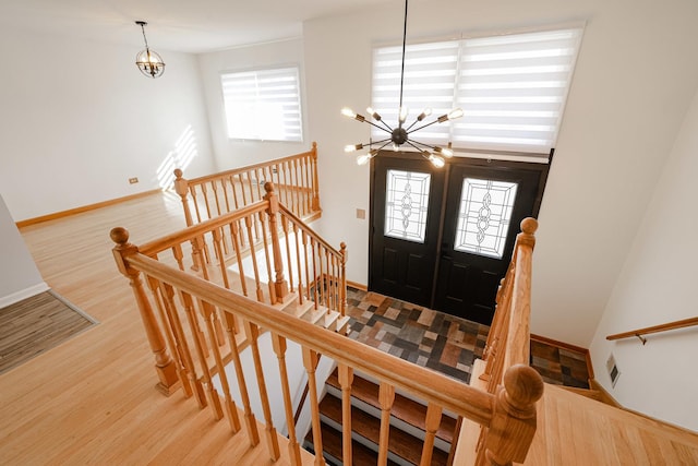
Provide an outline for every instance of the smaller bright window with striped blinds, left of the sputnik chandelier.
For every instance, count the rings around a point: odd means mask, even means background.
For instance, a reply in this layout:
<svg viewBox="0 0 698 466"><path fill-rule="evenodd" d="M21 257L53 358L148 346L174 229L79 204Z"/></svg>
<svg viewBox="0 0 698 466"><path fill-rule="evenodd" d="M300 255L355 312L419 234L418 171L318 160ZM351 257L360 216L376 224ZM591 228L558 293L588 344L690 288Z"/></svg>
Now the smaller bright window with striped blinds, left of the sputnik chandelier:
<svg viewBox="0 0 698 466"><path fill-rule="evenodd" d="M228 138L303 141L298 68L220 75Z"/></svg>

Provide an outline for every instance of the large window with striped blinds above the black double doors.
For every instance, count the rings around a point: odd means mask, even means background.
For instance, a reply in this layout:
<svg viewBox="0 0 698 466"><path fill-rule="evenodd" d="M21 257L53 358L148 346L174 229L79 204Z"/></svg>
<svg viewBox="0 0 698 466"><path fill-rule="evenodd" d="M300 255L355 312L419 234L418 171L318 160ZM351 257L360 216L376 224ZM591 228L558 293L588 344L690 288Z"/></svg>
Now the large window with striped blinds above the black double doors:
<svg viewBox="0 0 698 466"><path fill-rule="evenodd" d="M464 118L414 134L455 148L547 156L557 131L581 40L581 28L408 45L404 104L408 122L425 107L434 116L460 107ZM401 46L373 55L373 107L397 121ZM383 139L380 133L372 134Z"/></svg>

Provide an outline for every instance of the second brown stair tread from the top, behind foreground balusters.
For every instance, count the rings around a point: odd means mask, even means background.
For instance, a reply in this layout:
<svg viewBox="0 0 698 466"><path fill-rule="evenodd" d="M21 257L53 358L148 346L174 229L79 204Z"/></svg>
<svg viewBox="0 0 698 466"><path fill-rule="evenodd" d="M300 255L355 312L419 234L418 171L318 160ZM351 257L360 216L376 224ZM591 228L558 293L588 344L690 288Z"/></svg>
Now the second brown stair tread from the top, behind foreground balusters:
<svg viewBox="0 0 698 466"><path fill-rule="evenodd" d="M320 413L341 426L341 399L327 393L320 404ZM370 414L352 406L351 430L364 439L378 444L381 437L381 420ZM395 427L390 428L388 437L388 451L397 456L417 465L420 464L424 442ZM432 464L445 465L448 454L434 449Z"/></svg>

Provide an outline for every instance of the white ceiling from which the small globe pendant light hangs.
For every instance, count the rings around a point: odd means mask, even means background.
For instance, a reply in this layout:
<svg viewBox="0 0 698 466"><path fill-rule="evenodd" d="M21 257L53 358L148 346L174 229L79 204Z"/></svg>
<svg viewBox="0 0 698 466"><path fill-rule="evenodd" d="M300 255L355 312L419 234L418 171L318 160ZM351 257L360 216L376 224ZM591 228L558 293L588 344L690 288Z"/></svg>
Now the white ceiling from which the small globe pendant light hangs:
<svg viewBox="0 0 698 466"><path fill-rule="evenodd" d="M305 20L394 0L0 0L0 26L82 40L205 52L302 33Z"/></svg>

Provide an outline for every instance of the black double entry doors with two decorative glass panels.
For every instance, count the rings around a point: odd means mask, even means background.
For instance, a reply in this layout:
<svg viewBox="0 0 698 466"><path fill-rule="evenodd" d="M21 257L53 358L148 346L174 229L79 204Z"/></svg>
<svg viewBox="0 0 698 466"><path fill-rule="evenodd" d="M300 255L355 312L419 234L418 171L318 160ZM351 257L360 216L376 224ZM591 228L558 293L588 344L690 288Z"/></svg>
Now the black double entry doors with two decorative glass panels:
<svg viewBox="0 0 698 466"><path fill-rule="evenodd" d="M546 164L373 159L369 289L490 324L520 222L538 216Z"/></svg>

